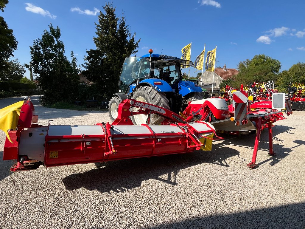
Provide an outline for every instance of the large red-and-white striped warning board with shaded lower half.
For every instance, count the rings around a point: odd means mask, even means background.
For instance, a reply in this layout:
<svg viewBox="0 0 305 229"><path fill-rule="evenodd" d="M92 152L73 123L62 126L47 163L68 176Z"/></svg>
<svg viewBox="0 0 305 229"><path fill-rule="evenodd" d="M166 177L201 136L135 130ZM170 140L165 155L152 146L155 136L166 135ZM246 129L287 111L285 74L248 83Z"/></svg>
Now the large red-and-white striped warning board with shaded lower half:
<svg viewBox="0 0 305 229"><path fill-rule="evenodd" d="M232 100L235 125L246 125L248 123L248 91L233 92Z"/></svg>

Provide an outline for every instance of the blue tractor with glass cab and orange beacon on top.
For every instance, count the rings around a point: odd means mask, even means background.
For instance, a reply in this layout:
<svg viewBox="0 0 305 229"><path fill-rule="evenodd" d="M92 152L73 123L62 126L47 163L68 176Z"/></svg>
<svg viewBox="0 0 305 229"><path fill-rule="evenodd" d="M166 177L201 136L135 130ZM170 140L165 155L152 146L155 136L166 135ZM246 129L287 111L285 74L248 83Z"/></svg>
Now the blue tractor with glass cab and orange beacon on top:
<svg viewBox="0 0 305 229"><path fill-rule="evenodd" d="M121 70L118 93L109 102L111 120L117 118L118 106L127 97L178 114L188 101L203 99L201 87L194 82L182 80L181 69L189 66L194 66L190 60L152 54L151 49L145 56L127 57ZM136 111L138 108L133 109ZM139 125L146 123L147 115L133 115L131 119L135 125ZM150 124L158 125L162 120L158 115L151 115Z"/></svg>

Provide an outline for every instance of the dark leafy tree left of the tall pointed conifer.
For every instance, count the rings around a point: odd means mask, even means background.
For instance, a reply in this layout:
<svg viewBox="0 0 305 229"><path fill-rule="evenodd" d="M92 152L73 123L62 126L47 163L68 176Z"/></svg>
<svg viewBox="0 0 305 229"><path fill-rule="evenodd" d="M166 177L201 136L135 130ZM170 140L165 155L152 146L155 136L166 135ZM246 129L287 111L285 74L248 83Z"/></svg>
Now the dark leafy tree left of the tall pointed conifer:
<svg viewBox="0 0 305 229"><path fill-rule="evenodd" d="M44 30L41 39L34 40L30 46L31 67L38 74L38 86L44 93L46 103L59 101L74 102L77 98L79 84L76 58L71 52L72 61L64 55L65 46L60 38L60 29L49 25L49 31Z"/></svg>

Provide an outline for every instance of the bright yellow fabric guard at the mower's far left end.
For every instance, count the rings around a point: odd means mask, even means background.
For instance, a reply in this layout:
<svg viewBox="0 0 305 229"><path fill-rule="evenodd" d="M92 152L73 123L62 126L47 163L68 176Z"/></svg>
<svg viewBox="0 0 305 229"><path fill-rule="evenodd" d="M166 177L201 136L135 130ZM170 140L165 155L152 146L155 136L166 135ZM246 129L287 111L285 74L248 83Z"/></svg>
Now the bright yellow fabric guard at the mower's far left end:
<svg viewBox="0 0 305 229"><path fill-rule="evenodd" d="M0 110L0 129L4 131L10 142L12 141L9 138L8 130L16 129L22 104L23 101L20 101L7 107L4 107Z"/></svg>

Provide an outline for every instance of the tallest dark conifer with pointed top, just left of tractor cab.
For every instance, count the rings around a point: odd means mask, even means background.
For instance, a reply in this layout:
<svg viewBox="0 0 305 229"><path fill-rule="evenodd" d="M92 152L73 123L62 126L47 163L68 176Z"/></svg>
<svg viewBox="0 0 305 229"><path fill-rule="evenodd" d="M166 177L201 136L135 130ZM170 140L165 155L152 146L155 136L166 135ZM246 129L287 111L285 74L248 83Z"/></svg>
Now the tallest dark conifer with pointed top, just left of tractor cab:
<svg viewBox="0 0 305 229"><path fill-rule="evenodd" d="M87 50L83 73L110 98L117 92L124 59L137 53L140 40L135 40L135 33L131 35L125 17L117 17L112 4L106 3L103 8L105 13L100 12L98 23L95 23L97 37L93 41L96 49Z"/></svg>

